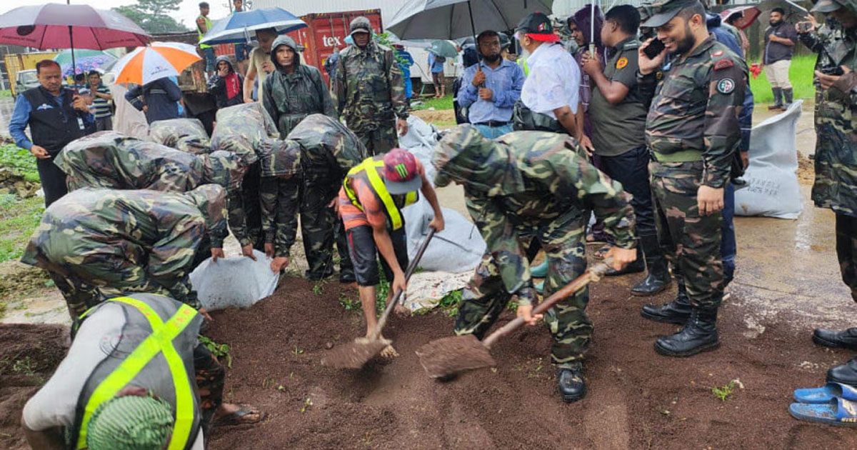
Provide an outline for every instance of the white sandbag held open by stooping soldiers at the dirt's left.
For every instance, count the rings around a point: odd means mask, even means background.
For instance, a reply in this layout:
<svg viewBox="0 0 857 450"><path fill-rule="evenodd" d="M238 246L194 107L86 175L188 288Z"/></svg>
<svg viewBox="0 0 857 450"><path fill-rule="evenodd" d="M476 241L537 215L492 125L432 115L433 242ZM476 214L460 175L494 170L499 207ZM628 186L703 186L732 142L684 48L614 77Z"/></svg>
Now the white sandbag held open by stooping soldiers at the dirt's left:
<svg viewBox="0 0 857 450"><path fill-rule="evenodd" d="M279 273L271 271L271 260L264 253L253 250L253 254L256 261L247 256L217 262L208 258L190 273L190 284L205 309L247 308L273 294Z"/></svg>

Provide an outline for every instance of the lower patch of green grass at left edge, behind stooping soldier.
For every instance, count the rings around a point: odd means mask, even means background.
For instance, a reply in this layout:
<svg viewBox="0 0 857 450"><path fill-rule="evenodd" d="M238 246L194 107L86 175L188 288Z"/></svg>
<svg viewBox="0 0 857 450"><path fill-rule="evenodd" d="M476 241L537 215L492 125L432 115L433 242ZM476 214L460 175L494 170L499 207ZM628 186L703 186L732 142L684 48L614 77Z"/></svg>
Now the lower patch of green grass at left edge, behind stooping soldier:
<svg viewBox="0 0 857 450"><path fill-rule="evenodd" d="M40 197L0 195L0 262L21 257L44 212L45 200Z"/></svg>

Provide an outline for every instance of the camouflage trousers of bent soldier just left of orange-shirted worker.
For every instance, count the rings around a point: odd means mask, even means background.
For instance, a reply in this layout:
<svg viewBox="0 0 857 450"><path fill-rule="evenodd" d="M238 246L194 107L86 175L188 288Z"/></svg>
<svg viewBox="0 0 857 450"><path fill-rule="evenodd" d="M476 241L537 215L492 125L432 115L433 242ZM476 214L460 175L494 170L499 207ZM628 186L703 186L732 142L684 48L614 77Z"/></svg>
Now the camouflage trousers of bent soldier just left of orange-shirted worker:
<svg viewBox="0 0 857 450"><path fill-rule="evenodd" d="M321 182L321 180L318 180ZM324 279L333 274L333 243L339 252L340 277L354 278L354 267L348 256L345 227L333 207L328 206L336 191L331 183L304 181L301 195L301 235L307 255L308 279Z"/></svg>

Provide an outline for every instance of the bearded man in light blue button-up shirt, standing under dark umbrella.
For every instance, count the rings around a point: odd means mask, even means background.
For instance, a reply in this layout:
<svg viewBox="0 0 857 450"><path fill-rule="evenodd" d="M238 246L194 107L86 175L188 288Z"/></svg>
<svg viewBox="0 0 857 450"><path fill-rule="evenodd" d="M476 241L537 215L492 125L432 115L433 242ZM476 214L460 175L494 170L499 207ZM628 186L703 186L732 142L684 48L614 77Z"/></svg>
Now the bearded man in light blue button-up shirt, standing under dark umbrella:
<svg viewBox="0 0 857 450"><path fill-rule="evenodd" d="M476 43L482 61L464 70L458 103L470 109L470 123L494 139L512 131L512 106L521 97L524 70L500 56L497 32L479 33Z"/></svg>

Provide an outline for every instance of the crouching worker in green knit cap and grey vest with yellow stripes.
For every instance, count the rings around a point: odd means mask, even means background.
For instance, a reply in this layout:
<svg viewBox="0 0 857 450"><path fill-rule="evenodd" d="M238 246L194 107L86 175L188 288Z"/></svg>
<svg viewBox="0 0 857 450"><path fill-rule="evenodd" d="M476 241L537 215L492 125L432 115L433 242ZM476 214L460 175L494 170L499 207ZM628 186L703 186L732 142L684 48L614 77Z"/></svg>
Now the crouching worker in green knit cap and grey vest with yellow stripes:
<svg viewBox="0 0 857 450"><path fill-rule="evenodd" d="M198 344L201 323L195 309L157 294L89 309L69 354L24 406L30 447L203 450L212 423L259 422L259 410L223 403L225 370Z"/></svg>

